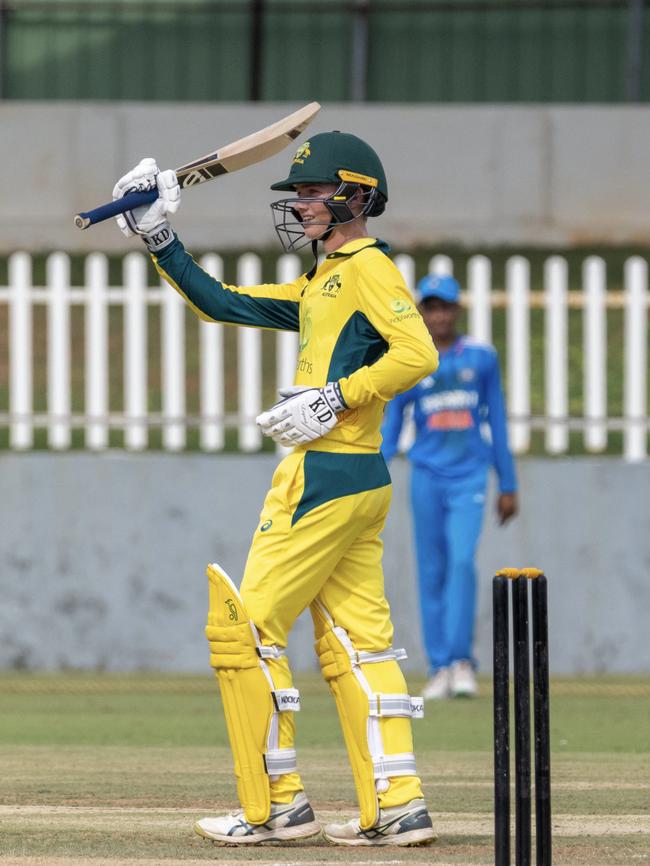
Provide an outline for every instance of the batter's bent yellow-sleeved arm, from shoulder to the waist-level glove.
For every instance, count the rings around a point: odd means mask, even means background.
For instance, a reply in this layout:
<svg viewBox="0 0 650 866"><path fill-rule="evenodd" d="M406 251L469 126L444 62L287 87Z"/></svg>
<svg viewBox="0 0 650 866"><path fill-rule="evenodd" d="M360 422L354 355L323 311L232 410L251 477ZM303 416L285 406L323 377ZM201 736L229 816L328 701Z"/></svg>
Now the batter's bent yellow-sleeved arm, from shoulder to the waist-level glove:
<svg viewBox="0 0 650 866"><path fill-rule="evenodd" d="M379 398L388 402L438 367L438 352L400 272L383 253L357 268L358 303L387 351L339 381L350 408Z"/></svg>

